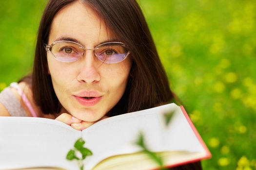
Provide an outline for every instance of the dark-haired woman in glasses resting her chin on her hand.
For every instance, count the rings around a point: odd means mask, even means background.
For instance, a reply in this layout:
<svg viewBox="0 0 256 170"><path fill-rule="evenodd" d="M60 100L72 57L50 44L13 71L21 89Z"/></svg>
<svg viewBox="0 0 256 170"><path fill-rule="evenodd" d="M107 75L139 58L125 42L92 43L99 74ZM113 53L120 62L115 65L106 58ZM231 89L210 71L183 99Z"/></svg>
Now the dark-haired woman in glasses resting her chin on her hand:
<svg viewBox="0 0 256 170"><path fill-rule="evenodd" d="M0 116L23 113L82 130L173 99L135 0L50 0L39 25L32 76L1 92Z"/></svg>

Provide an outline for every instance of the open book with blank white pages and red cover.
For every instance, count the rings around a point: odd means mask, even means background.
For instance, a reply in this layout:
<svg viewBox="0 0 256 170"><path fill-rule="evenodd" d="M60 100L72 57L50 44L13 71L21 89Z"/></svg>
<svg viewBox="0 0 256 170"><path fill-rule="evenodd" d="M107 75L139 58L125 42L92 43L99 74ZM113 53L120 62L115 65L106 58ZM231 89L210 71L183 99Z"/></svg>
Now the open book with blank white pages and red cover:
<svg viewBox="0 0 256 170"><path fill-rule="evenodd" d="M172 113L168 124L166 113ZM78 170L66 154L79 137L93 153L84 160L84 170L157 169L136 144L139 134L165 167L211 157L184 107L171 103L103 119L83 131L54 119L0 117L0 170Z"/></svg>

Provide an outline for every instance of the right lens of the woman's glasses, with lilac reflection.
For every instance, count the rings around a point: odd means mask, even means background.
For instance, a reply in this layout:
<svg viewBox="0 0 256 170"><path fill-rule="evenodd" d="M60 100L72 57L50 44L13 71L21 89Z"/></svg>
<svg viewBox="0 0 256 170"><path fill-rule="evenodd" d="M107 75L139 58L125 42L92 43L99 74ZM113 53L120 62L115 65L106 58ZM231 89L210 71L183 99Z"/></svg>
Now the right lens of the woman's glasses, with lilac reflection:
<svg viewBox="0 0 256 170"><path fill-rule="evenodd" d="M95 55L104 63L118 63L125 59L128 54L123 43L104 43L96 47Z"/></svg>

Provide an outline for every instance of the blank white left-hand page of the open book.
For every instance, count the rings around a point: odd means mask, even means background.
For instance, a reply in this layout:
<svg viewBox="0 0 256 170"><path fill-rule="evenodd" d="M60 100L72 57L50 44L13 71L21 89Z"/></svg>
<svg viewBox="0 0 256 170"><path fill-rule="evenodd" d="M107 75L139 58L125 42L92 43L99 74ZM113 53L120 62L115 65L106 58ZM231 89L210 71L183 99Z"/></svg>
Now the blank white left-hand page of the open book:
<svg viewBox="0 0 256 170"><path fill-rule="evenodd" d="M0 117L0 170L44 166L77 169L73 161L66 160L66 154L79 137L81 131L57 120Z"/></svg>

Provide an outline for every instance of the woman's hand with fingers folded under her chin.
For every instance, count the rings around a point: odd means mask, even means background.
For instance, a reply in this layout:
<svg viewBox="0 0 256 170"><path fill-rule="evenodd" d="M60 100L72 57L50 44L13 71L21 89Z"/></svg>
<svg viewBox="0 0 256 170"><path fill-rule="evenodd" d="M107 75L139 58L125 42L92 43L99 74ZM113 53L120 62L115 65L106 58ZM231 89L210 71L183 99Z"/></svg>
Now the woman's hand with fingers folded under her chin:
<svg viewBox="0 0 256 170"><path fill-rule="evenodd" d="M99 120L106 119L106 118L108 118L108 117L104 116ZM77 118L75 118L72 115L67 114L67 113L62 113L61 115L59 115L59 117L56 118L56 120L62 121L64 123L70 125L74 129L80 130L80 131L83 130L83 129L86 129L87 127L89 127L92 124L97 122L97 121L95 121L95 122L83 121L83 120L77 119Z"/></svg>

